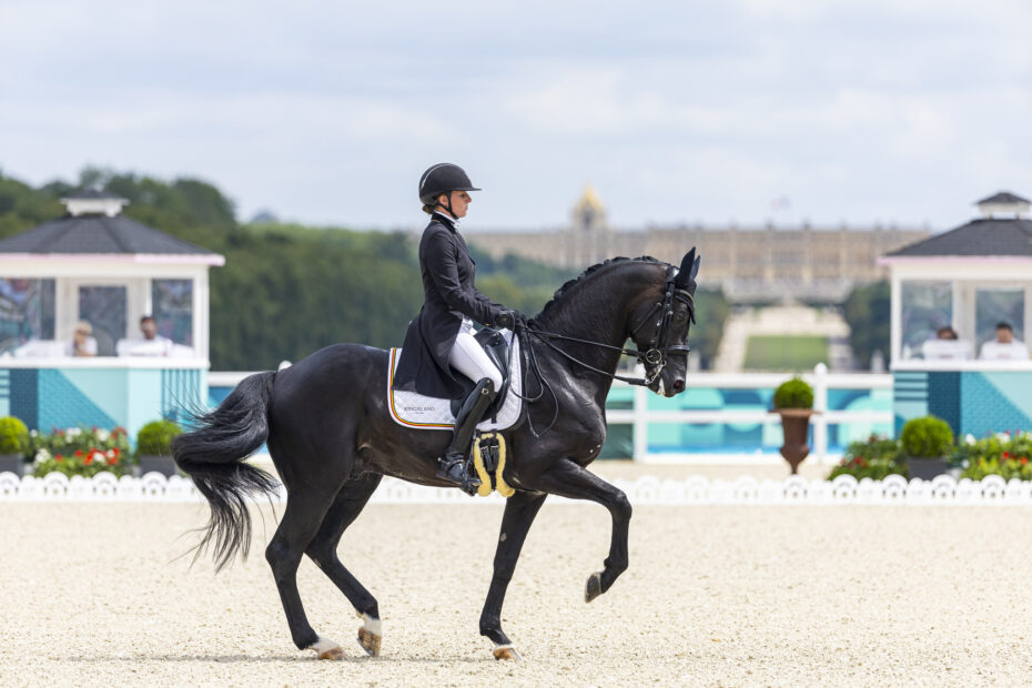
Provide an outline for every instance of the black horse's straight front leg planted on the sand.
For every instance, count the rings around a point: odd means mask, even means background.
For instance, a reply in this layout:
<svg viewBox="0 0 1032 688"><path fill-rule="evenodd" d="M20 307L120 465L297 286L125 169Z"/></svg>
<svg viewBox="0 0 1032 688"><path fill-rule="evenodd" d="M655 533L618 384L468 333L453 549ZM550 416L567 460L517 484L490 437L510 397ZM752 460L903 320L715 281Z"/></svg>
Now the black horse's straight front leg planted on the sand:
<svg viewBox="0 0 1032 688"><path fill-rule="evenodd" d="M534 517L545 503L546 495L517 492L505 500L505 514L502 516L502 533L498 535L498 548L495 550L495 574L490 579L484 611L480 613L480 635L494 644L495 659L519 659L505 631L502 630L502 604L505 590L513 579L513 570L519 558L519 550L527 538L527 532Z"/></svg>

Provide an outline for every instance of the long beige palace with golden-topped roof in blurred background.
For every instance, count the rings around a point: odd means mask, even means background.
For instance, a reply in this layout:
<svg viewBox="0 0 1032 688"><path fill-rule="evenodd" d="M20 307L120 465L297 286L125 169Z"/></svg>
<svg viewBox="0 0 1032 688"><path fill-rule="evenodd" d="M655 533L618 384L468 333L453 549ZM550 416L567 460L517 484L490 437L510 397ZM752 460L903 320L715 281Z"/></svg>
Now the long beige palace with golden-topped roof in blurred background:
<svg viewBox="0 0 1032 688"><path fill-rule="evenodd" d="M580 270L616 255L681 256L696 246L707 286L732 302L839 303L857 285L887 279L880 256L927 239L928 227L893 225L743 227L687 225L618 230L588 186L569 226L550 230L469 231L471 243L493 257L515 254Z"/></svg>

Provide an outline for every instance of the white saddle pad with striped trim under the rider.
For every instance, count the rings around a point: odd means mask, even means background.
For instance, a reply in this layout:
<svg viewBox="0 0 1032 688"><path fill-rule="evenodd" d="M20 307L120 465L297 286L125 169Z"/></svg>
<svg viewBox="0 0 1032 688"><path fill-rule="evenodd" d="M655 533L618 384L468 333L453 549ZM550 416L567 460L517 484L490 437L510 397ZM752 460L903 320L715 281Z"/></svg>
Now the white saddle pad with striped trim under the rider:
<svg viewBox="0 0 1032 688"><path fill-rule="evenodd" d="M519 341L513 338L513 333L503 330L502 335L513 347L513 363L509 371L509 387L505 401L498 409L497 422L490 418L477 425L479 431L496 431L512 427L519 418L523 399L520 388L523 376L519 374ZM452 415L452 399L442 399L434 396L423 396L416 392L401 392L394 388L394 370L402 357L401 348L391 350L391 365L387 366L387 406L391 417L398 425L419 429L452 429L455 427L455 416ZM517 394L513 394L513 392Z"/></svg>

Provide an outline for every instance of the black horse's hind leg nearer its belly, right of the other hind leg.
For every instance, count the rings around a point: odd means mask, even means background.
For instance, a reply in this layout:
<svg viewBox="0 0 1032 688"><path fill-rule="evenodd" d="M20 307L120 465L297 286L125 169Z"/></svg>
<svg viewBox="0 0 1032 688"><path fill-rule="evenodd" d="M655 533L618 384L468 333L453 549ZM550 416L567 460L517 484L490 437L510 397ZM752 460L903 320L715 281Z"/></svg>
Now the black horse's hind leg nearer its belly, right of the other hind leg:
<svg viewBox="0 0 1032 688"><path fill-rule="evenodd" d="M376 598L341 564L337 557L337 545L347 526L354 523L365 508L376 486L380 485L381 478L383 476L380 474L367 473L347 480L323 518L318 533L305 548L305 554L344 593L355 611L362 617L358 644L373 657L380 655L380 644L383 639L380 606L376 604Z"/></svg>

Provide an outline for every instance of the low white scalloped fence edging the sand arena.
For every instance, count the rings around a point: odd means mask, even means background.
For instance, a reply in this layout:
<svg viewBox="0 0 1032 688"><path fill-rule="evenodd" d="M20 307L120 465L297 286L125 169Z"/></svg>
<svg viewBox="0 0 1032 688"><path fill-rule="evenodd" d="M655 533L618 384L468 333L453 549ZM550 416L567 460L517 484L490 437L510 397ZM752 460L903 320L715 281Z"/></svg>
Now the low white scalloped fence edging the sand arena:
<svg viewBox="0 0 1032 688"><path fill-rule="evenodd" d="M684 480L643 476L613 482L636 506L667 505L1020 505L1032 506L1032 482L989 476L982 480L955 479L940 475L932 480L908 482L899 475L884 480L857 480L841 475L833 480L807 480L790 476L785 480L759 480L742 476L722 480L701 476ZM273 502L285 499L285 490ZM160 473L142 477L115 477L100 473L91 478L51 473L42 478L0 473L0 503L99 502L199 504L203 497L190 478ZM457 489L426 487L395 478L384 478L372 504L462 504L500 505L497 493L489 497L467 497ZM577 504L563 497L549 503Z"/></svg>

